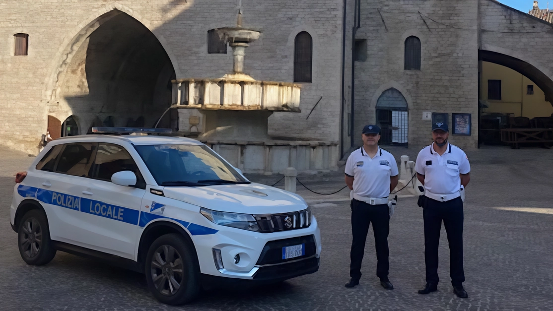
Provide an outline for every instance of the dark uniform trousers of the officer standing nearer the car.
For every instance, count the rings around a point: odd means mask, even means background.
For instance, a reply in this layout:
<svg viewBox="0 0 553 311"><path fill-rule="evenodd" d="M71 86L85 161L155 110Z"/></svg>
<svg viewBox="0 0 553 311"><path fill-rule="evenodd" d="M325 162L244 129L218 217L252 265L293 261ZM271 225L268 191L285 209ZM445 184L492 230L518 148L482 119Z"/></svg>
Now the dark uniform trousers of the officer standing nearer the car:
<svg viewBox="0 0 553 311"><path fill-rule="evenodd" d="M353 199L351 201L351 227L353 243L351 245L351 266L349 276L361 278L361 262L365 250L365 242L369 231L369 224L373 224L374 244L377 251L377 276L387 277L388 262L388 234L390 232L390 216L388 204L370 205Z"/></svg>

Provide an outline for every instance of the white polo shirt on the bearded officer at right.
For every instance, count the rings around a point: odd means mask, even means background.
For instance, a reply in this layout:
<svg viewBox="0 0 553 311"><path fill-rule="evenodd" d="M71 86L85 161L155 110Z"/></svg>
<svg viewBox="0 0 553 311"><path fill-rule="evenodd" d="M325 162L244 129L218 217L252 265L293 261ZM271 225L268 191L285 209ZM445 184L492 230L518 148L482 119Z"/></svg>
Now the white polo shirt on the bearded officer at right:
<svg viewBox="0 0 553 311"><path fill-rule="evenodd" d="M424 175L424 187L434 194L453 194L461 188L459 174L471 171L465 151L448 143L446 152L439 155L434 143L424 147L416 157L415 171Z"/></svg>

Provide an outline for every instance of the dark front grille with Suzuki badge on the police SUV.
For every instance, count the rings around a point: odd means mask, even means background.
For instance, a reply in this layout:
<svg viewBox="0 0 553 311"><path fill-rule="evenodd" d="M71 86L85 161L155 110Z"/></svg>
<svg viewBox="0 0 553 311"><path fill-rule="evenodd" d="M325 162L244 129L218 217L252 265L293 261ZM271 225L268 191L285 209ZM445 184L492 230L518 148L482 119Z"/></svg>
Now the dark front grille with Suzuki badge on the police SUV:
<svg viewBox="0 0 553 311"><path fill-rule="evenodd" d="M309 209L283 214L254 215L262 233L308 228L311 225Z"/></svg>

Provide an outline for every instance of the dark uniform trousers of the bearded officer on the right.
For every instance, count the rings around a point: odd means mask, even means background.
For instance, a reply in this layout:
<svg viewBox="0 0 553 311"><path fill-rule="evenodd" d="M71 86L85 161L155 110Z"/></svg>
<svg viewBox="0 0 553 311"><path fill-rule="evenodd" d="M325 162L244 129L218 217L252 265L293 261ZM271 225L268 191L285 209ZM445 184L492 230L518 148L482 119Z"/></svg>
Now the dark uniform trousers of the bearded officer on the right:
<svg viewBox="0 0 553 311"><path fill-rule="evenodd" d="M461 285L465 282L463 272L463 201L461 198L440 202L426 198L423 210L424 218L424 258L426 263L426 282L437 284L438 244L442 220L447 233L450 248L451 283Z"/></svg>

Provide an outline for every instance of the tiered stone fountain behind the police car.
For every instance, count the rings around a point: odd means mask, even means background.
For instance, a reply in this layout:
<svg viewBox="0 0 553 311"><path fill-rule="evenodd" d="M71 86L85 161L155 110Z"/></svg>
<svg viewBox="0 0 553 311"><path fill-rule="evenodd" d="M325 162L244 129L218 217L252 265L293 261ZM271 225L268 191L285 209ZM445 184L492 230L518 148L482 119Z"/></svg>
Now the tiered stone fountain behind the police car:
<svg viewBox="0 0 553 311"><path fill-rule="evenodd" d="M334 170L337 144L268 135L271 114L301 112L301 85L257 81L243 72L246 48L259 39L260 31L243 28L241 13L236 27L215 31L232 48L233 70L221 78L173 81L172 107L180 108L179 128L244 172L270 174L289 166L299 171Z"/></svg>

